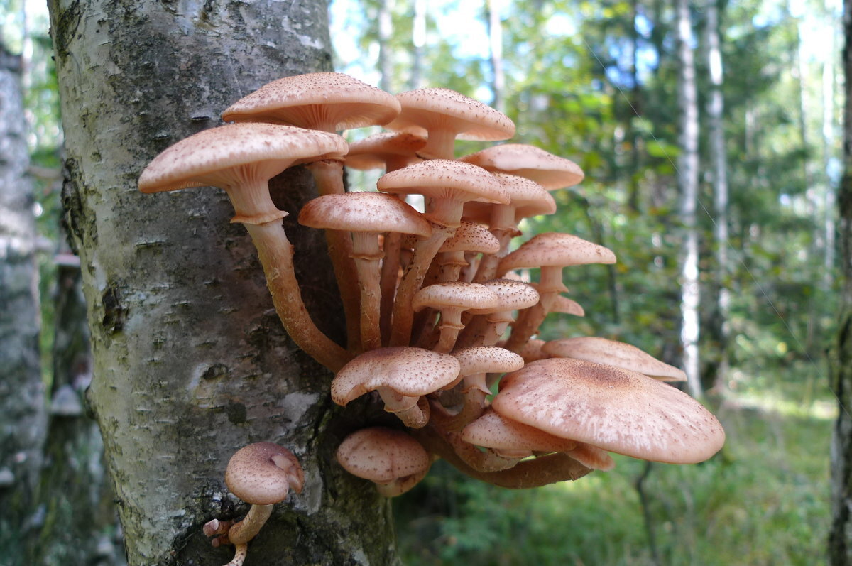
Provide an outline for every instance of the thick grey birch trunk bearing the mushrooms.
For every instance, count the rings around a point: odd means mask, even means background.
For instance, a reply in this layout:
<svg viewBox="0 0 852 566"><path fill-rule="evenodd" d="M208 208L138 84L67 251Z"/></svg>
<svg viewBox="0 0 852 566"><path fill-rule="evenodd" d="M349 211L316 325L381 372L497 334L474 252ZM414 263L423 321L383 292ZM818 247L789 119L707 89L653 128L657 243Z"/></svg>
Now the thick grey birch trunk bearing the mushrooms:
<svg viewBox="0 0 852 566"><path fill-rule="evenodd" d="M329 70L326 6L51 0L66 132L66 214L80 251L94 353L89 401L101 427L130 564L225 563L201 533L247 511L227 494L227 459L271 441L306 485L275 506L247 564L396 561L389 505L333 463L360 419L327 393L331 375L274 314L255 251L224 192L141 194L171 143L219 124L239 97L281 76ZM290 211L297 276L314 320L340 341L325 243L295 222L301 168L273 181Z"/></svg>

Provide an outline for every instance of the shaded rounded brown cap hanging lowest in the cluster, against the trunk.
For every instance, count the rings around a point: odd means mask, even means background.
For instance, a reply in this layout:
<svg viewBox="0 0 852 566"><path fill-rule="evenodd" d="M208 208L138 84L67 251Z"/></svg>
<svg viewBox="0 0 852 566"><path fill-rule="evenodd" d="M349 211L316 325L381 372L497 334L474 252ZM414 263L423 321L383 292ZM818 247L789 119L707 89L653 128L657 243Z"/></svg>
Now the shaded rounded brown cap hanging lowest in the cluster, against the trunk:
<svg viewBox="0 0 852 566"><path fill-rule="evenodd" d="M374 426L347 436L337 447L337 462L353 476L389 483L429 470L429 453L401 430Z"/></svg>

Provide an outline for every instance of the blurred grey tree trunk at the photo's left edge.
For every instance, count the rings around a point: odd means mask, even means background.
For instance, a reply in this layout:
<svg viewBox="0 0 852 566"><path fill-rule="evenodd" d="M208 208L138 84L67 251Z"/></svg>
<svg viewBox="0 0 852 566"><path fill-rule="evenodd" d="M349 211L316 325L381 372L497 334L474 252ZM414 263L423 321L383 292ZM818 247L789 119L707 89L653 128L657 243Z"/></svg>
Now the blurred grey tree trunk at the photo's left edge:
<svg viewBox="0 0 852 566"><path fill-rule="evenodd" d="M0 548L22 562L47 419L39 360L38 269L20 57L0 38Z"/></svg>

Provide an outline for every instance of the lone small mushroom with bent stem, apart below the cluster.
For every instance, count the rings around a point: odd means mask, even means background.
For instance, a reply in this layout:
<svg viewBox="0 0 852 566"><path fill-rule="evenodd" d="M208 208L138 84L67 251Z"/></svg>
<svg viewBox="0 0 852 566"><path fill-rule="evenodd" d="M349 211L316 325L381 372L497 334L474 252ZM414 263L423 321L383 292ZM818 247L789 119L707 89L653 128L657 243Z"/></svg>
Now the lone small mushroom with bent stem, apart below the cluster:
<svg viewBox="0 0 852 566"><path fill-rule="evenodd" d="M245 545L267 522L273 505L285 500L291 490L301 493L304 482L304 471L296 456L273 442L249 444L231 456L225 470L225 484L232 494L251 504L248 515L224 535L227 542L237 546L234 560L245 558ZM208 530L205 526L205 532ZM231 562L235 563L241 561Z"/></svg>

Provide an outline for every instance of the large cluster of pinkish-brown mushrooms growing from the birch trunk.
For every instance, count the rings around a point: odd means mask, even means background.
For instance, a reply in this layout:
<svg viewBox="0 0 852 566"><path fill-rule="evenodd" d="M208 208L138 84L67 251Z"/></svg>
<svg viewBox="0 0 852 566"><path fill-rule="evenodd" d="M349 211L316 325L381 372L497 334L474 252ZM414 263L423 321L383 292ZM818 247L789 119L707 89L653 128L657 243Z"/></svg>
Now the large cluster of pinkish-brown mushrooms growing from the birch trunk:
<svg viewBox="0 0 852 566"><path fill-rule="evenodd" d="M532 488L609 470L610 452L694 463L722 447L717 419L663 383L684 379L675 367L603 338L536 338L551 313L584 315L564 296L563 269L616 258L572 234L513 244L521 221L554 213L550 192L584 173L525 144L456 159L457 139L514 136L503 113L452 90L394 96L321 72L273 81L222 118L233 124L153 159L139 188L224 189L286 332L335 373L331 399L363 397L395 415L396 425L376 419L343 440L347 471L394 496L442 458L482 481ZM389 131L351 145L336 133L365 126ZM347 344L325 336L302 303L288 211L269 196L268 180L294 165L311 170L320 193L298 220L325 230ZM344 166L384 174L375 188L349 190ZM422 211L406 202L412 194ZM535 270L537 282L521 277Z"/></svg>

